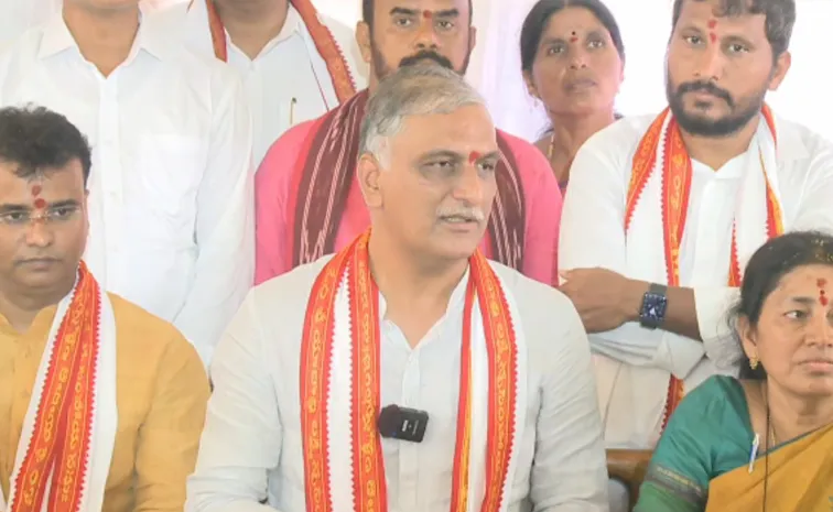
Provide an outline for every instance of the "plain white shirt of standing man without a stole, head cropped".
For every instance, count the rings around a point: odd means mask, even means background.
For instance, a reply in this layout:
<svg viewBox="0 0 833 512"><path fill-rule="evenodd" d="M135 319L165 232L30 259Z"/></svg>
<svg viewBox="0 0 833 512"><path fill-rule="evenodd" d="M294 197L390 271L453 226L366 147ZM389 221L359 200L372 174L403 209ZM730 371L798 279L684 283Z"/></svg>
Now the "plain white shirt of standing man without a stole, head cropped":
<svg viewBox="0 0 833 512"><path fill-rule="evenodd" d="M87 135L85 260L207 362L253 277L249 112L234 73L170 41L153 18L105 78L55 14L0 53L0 105L43 105Z"/></svg>

